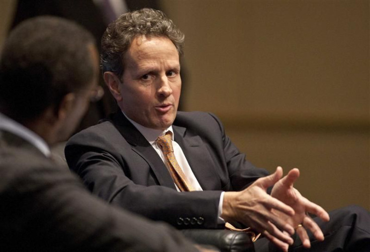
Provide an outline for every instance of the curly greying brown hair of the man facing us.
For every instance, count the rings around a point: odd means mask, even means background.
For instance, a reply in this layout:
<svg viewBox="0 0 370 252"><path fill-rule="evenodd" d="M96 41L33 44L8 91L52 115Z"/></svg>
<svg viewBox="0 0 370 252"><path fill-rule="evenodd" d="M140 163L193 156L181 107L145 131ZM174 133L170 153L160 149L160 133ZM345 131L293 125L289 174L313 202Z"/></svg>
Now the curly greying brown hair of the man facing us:
<svg viewBox="0 0 370 252"><path fill-rule="evenodd" d="M183 33L163 12L144 8L123 14L108 26L102 38L102 71L111 71L121 78L123 56L133 39L141 35L167 37L175 45L179 56L182 55Z"/></svg>

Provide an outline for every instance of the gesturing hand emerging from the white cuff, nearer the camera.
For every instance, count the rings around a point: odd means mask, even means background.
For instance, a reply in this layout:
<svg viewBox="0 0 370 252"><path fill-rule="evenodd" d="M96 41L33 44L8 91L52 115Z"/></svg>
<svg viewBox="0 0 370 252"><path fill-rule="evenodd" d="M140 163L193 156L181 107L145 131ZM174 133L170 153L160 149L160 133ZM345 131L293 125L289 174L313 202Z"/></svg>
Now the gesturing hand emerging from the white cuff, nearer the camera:
<svg viewBox="0 0 370 252"><path fill-rule="evenodd" d="M282 176L283 170L279 167L273 174L257 179L243 191L225 192L221 217L252 227L287 251L289 244L293 244L291 235L295 232L293 222L287 222L287 216L293 218L295 211L285 202L266 193L267 188L279 182ZM283 187L279 188L275 194L288 199L284 196Z"/></svg>

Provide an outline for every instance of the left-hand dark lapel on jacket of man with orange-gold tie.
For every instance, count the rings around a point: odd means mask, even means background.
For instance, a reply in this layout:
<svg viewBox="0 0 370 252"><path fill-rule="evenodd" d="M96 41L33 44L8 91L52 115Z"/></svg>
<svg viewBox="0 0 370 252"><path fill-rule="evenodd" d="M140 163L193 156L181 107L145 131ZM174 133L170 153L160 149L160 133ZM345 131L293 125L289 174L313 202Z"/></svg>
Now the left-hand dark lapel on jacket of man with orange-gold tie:
<svg viewBox="0 0 370 252"><path fill-rule="evenodd" d="M144 138L144 136L135 128L135 126L126 118L121 111L111 115L109 120L115 125L116 129L131 145L134 152L140 155L150 166L159 185L170 187L176 190L171 175L166 166L160 159L156 151Z"/></svg>

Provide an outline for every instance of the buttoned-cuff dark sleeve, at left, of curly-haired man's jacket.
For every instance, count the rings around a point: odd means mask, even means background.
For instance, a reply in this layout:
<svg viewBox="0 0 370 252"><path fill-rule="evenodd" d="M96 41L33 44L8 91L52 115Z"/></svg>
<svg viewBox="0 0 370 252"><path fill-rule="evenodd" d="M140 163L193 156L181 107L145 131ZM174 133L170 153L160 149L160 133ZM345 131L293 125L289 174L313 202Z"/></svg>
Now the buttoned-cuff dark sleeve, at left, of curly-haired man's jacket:
<svg viewBox="0 0 370 252"><path fill-rule="evenodd" d="M220 227L217 214L221 191L177 192L159 186L156 181L150 186L134 183L133 171L146 174L148 180L153 176L150 169L143 170L148 164L140 163L143 159L132 151L118 132L113 135L114 131L113 126L102 131L93 127L76 134L66 145L68 166L91 192L129 211L168 222L176 228Z"/></svg>

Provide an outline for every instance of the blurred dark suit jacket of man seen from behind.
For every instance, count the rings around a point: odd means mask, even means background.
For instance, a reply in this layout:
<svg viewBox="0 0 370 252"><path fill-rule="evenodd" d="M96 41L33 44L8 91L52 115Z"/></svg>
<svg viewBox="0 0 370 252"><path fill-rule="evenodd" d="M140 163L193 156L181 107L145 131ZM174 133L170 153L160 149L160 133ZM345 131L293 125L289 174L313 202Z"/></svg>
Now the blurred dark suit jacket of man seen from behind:
<svg viewBox="0 0 370 252"><path fill-rule="evenodd" d="M116 209L38 149L0 130L1 251L198 251L175 230Z"/></svg>

